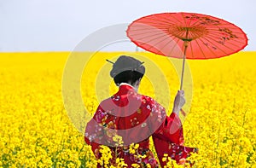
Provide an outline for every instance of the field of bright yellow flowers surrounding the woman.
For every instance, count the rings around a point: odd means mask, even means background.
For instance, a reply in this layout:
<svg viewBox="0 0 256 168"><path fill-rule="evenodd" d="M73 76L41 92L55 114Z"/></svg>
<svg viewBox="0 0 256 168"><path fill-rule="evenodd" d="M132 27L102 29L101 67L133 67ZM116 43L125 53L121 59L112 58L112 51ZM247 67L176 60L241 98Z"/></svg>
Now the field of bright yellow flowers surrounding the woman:
<svg viewBox="0 0 256 168"><path fill-rule="evenodd" d="M62 75L69 54L0 54L0 167L96 166L90 147L85 145L83 128L79 131L68 117L62 99ZM81 95L89 115L99 101L117 90L105 59L121 54L96 53L84 67ZM162 78L151 78L149 68L155 67L147 62L148 76L139 92L154 97L170 113L179 88L177 73L160 55L140 55L159 67L171 94L166 101L166 88L158 86ZM194 167L256 167L255 55L240 52L220 59L187 61L193 92L185 88L191 106L183 130L185 145L200 149L190 158L195 160ZM106 85L108 88L103 88ZM76 100L72 101L75 104Z"/></svg>

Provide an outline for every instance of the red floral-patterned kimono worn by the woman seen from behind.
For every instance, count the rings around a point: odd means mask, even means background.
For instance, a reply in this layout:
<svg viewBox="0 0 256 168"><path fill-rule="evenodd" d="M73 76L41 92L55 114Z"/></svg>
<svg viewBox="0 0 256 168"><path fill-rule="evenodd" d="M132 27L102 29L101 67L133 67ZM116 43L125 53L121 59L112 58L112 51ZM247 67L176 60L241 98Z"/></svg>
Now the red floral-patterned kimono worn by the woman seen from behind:
<svg viewBox="0 0 256 168"><path fill-rule="evenodd" d="M114 140L117 135L122 137L122 144ZM159 167L149 149L150 136L162 167L166 165L162 161L164 154L178 162L196 151L183 146L183 127L176 113L166 116L165 108L154 99L139 95L130 84L121 84L119 91L97 108L86 126L84 141L91 145L96 159L101 158L100 145L108 146L112 151L112 165L116 158L122 158L128 167L132 164ZM131 143L139 145L136 154L129 150ZM138 154L143 157L137 157Z"/></svg>

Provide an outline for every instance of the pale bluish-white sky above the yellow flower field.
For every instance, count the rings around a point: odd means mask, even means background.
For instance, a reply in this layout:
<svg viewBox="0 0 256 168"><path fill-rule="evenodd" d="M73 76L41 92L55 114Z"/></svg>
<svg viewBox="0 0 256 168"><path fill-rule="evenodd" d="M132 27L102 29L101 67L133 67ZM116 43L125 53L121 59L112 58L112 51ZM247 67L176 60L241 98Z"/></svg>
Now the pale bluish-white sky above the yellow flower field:
<svg viewBox="0 0 256 168"><path fill-rule="evenodd" d="M72 51L103 27L164 12L227 20L247 33L244 50L256 50L255 6L255 0L0 0L0 52Z"/></svg>

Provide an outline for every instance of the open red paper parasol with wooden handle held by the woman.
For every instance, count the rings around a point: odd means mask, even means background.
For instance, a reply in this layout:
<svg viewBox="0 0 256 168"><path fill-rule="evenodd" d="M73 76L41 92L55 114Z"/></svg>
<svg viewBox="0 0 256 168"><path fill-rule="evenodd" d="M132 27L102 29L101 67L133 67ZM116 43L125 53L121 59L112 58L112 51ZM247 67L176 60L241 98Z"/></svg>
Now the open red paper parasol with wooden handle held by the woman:
<svg viewBox="0 0 256 168"><path fill-rule="evenodd" d="M246 34L234 24L206 14L162 13L135 20L127 36L137 46L157 55L212 59L231 55L247 46ZM183 72L180 90L183 85Z"/></svg>

